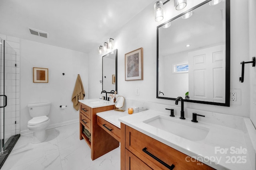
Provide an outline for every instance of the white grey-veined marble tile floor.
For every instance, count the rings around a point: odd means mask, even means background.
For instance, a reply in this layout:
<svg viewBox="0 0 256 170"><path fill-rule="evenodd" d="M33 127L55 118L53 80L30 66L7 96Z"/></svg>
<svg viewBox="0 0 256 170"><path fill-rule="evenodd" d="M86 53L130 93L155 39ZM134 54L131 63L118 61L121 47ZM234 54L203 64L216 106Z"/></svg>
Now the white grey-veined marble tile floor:
<svg viewBox="0 0 256 170"><path fill-rule="evenodd" d="M120 147L91 160L90 147L79 139L79 123L46 130L46 141L32 144L21 136L1 170L120 170Z"/></svg>

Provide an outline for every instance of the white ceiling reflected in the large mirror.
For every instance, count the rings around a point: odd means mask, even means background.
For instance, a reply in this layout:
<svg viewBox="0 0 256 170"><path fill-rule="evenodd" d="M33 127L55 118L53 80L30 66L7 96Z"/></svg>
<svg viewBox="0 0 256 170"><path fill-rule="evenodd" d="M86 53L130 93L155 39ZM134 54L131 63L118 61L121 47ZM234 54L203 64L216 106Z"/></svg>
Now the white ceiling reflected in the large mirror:
<svg viewBox="0 0 256 170"><path fill-rule="evenodd" d="M215 6L206 3L194 9L190 18L179 17L171 21L169 28L160 27L158 29L160 56L225 44L223 9L225 13L223 1ZM190 47L186 47L188 44Z"/></svg>

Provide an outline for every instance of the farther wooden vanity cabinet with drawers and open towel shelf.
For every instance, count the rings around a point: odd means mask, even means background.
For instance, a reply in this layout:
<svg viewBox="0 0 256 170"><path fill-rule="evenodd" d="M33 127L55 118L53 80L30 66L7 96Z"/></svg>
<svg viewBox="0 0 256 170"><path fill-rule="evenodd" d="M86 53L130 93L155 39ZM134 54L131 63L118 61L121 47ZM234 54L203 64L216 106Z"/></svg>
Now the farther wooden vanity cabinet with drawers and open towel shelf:
<svg viewBox="0 0 256 170"><path fill-rule="evenodd" d="M97 124L96 113L112 109L114 105L91 108L80 102L80 140L84 139L91 148L92 160L119 147L119 142ZM83 133L84 127L91 133L91 141Z"/></svg>

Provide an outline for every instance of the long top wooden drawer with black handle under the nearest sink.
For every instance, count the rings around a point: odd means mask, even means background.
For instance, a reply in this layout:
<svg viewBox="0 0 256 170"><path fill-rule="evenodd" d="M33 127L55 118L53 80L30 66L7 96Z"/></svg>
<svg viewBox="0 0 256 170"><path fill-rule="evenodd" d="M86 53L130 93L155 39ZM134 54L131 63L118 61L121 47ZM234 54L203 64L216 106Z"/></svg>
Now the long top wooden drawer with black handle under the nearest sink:
<svg viewBox="0 0 256 170"><path fill-rule="evenodd" d="M175 166L174 170L213 170L210 166L190 158L186 154L183 154L182 152L179 152L178 150L175 150L129 126L126 126L125 135L126 149L140 158L152 169L167 170L170 167L166 168L166 166L163 165L167 164L167 166ZM156 158L153 158L152 155ZM164 163L160 163L156 160L157 158Z"/></svg>

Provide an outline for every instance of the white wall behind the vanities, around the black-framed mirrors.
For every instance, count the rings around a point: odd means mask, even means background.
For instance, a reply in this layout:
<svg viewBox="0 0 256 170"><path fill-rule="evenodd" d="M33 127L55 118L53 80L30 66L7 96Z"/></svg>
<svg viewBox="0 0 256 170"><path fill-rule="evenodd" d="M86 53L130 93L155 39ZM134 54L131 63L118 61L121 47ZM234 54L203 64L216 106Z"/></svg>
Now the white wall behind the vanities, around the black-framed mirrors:
<svg viewBox="0 0 256 170"><path fill-rule="evenodd" d="M203 0L190 1L188 8L202 2ZM241 105L231 104L230 107L213 106L206 104L185 103L184 107L200 109L205 111L215 111L230 115L240 115L249 117L249 83L239 82L241 76L241 61L248 60L248 0L231 0L231 68L230 84L231 89L241 89ZM154 2L128 21L118 33L110 33L108 37L114 38L115 48L118 49L118 94L129 99L136 99L148 102L156 102L174 106L173 100L163 100L156 98L156 27L160 23L154 21ZM173 18L180 11L176 11L171 0L165 6L166 19ZM187 10L186 9L186 10ZM182 11L181 11L182 12ZM163 21L163 22L164 22ZM102 37L102 41L108 37ZM124 77L124 54L135 49L144 49L144 80L125 81ZM89 55L89 70L93 70L89 75L89 98L98 98L100 94L101 77L101 56L97 55L97 50L92 50ZM245 68L248 72L249 68ZM248 74L245 80L249 80ZM136 96L135 90L140 88L140 95Z"/></svg>

